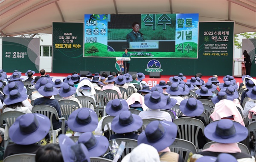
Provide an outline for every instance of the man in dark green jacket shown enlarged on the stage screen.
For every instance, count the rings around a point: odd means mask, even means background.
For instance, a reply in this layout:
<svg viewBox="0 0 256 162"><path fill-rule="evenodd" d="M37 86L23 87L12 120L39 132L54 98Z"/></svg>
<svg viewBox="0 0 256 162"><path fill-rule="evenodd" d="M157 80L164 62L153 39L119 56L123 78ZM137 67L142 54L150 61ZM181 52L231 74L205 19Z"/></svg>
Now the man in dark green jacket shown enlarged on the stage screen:
<svg viewBox="0 0 256 162"><path fill-rule="evenodd" d="M130 48L130 42L145 42L143 39L144 34L140 32L140 24L134 22L131 27L132 31L126 36L127 48Z"/></svg>

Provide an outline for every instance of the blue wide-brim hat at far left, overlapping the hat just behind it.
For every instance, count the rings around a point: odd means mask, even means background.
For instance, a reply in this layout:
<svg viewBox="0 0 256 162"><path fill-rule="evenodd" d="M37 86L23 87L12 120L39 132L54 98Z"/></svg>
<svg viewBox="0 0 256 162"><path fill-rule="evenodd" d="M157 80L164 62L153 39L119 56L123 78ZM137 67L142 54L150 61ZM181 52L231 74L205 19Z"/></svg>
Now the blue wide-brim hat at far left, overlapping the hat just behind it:
<svg viewBox="0 0 256 162"><path fill-rule="evenodd" d="M18 102L24 101L27 98L28 98L27 94L20 93L17 89L14 89L14 90L10 91L9 96L6 99L4 99L3 102L6 105L12 105L14 103L18 103Z"/></svg>

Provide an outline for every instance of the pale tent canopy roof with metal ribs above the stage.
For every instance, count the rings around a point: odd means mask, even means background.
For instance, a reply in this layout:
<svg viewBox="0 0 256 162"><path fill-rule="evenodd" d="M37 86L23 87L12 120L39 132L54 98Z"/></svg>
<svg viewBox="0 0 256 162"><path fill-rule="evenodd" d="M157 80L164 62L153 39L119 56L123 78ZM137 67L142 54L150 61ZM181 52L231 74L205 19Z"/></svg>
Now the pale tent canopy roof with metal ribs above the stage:
<svg viewBox="0 0 256 162"><path fill-rule="evenodd" d="M235 21L235 34L256 32L256 0L0 0L0 35L52 33L52 22L84 14L199 13L199 21Z"/></svg>

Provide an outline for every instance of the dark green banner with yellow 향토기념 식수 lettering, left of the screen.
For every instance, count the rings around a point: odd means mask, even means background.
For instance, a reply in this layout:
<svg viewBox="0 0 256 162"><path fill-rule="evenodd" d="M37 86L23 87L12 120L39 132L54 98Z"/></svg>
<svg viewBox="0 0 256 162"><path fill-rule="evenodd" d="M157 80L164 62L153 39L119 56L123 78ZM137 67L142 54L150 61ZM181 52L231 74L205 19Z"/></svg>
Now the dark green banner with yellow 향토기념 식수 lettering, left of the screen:
<svg viewBox="0 0 256 162"><path fill-rule="evenodd" d="M52 23L52 72L83 66L84 23Z"/></svg>

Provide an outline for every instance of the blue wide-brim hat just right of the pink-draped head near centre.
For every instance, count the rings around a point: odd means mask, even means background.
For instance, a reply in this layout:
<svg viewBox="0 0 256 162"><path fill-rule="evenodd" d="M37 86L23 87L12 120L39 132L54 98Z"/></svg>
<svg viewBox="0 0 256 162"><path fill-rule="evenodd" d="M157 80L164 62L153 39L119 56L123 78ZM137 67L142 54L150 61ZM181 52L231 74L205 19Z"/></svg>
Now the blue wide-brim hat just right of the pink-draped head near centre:
<svg viewBox="0 0 256 162"><path fill-rule="evenodd" d="M166 97L158 91L153 91L151 94L146 94L144 98L145 105L151 109L160 109L167 104Z"/></svg>

